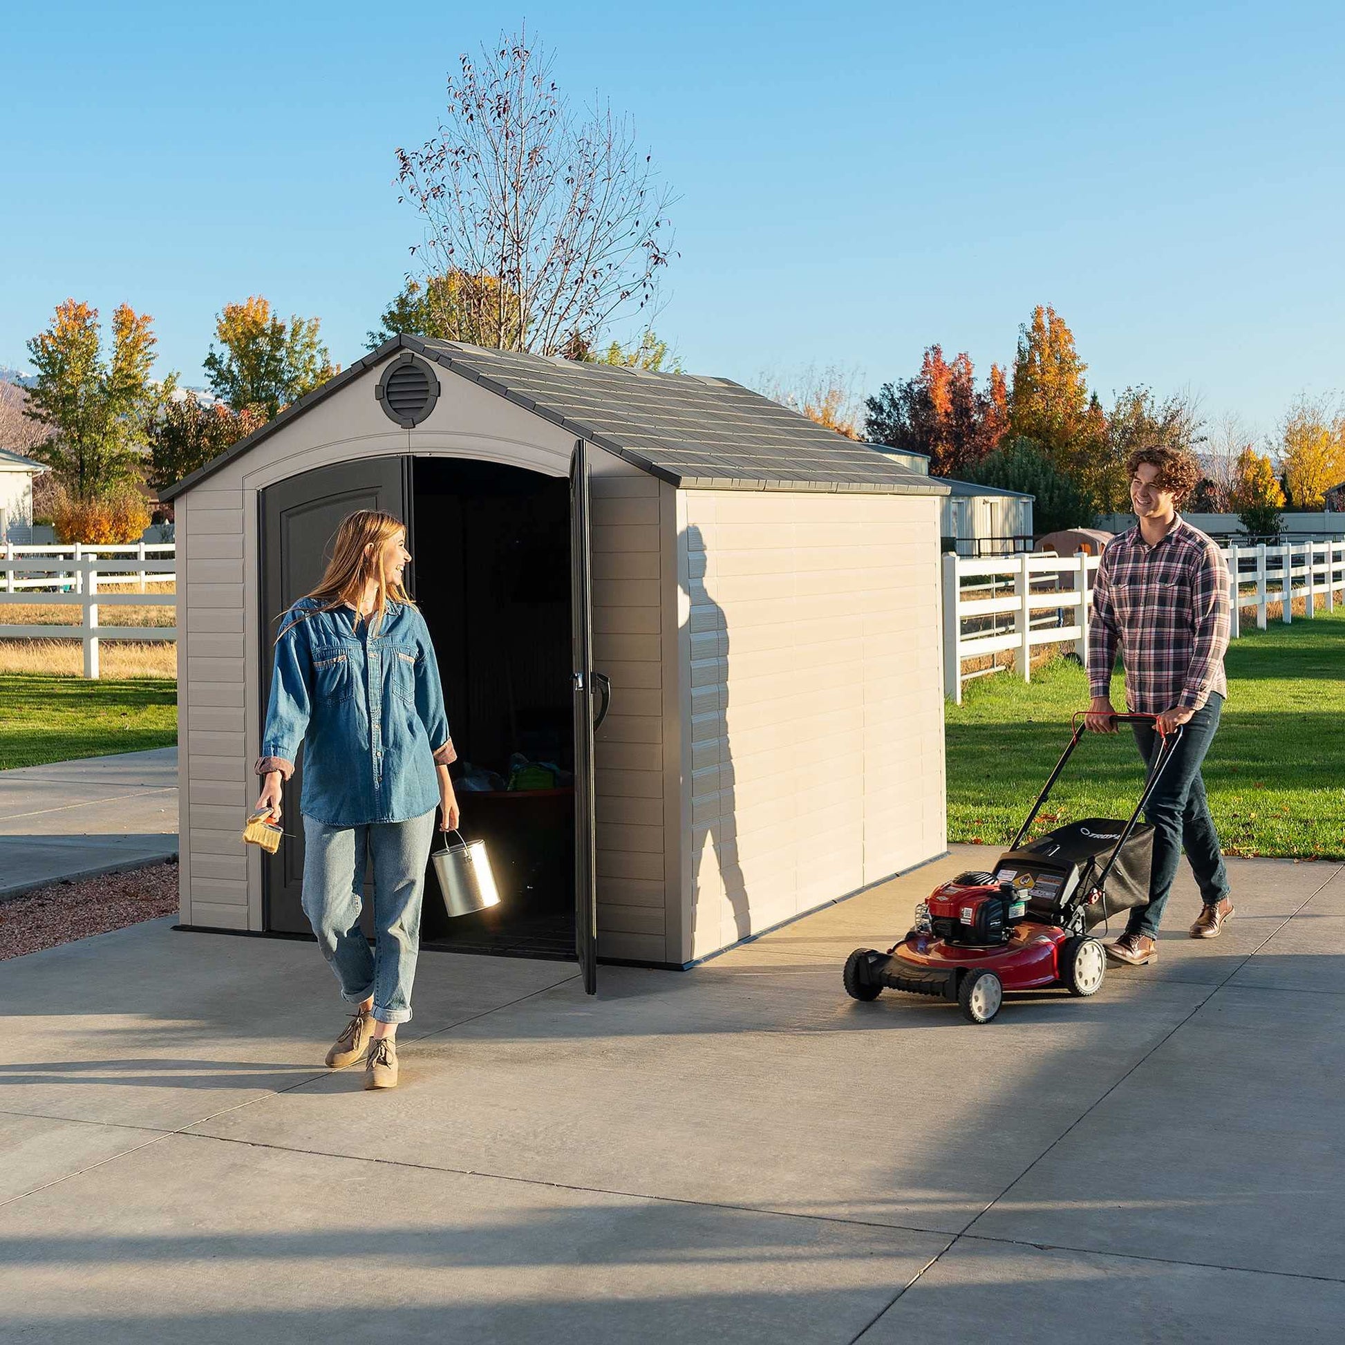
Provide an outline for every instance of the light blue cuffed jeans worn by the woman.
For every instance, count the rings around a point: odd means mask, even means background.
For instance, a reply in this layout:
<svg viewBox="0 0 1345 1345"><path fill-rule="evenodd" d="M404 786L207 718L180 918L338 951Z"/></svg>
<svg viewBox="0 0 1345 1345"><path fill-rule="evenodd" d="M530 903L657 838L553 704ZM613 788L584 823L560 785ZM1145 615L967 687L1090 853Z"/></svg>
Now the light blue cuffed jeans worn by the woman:
<svg viewBox="0 0 1345 1345"><path fill-rule="evenodd" d="M379 1022L409 1022L433 810L409 822L330 827L304 816L304 915L342 998L374 997ZM374 951L359 929L366 858L374 857Z"/></svg>

